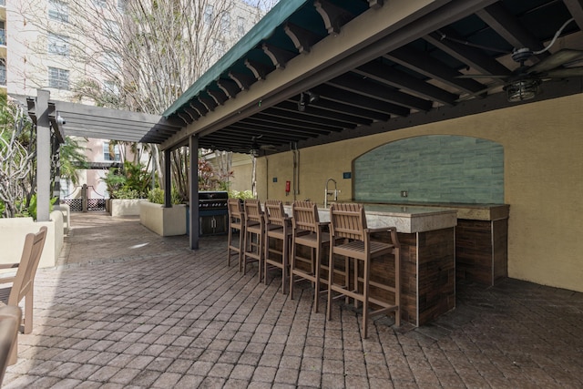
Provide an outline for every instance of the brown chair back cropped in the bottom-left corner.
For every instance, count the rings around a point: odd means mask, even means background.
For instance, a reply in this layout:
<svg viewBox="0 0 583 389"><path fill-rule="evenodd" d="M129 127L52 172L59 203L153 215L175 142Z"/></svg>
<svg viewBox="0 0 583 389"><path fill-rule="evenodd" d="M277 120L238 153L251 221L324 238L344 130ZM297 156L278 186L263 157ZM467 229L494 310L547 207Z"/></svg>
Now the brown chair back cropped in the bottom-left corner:
<svg viewBox="0 0 583 389"><path fill-rule="evenodd" d="M0 307L0 385L4 380L6 367L17 360L18 327L22 320L19 307L4 305Z"/></svg>

